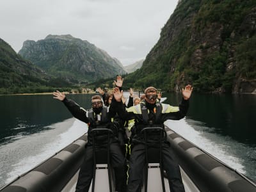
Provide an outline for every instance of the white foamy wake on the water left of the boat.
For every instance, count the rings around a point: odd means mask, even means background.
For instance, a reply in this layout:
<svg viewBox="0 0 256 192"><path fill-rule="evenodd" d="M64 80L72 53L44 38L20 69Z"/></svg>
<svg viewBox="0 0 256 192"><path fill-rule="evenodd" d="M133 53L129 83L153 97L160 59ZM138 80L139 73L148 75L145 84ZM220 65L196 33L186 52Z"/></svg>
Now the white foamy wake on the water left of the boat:
<svg viewBox="0 0 256 192"><path fill-rule="evenodd" d="M0 147L1 182L8 184L13 179L28 172L37 164L53 156L56 152L72 143L87 132L84 122L70 118L63 122L47 126L47 131L23 136L19 140ZM3 155L3 156L2 156Z"/></svg>

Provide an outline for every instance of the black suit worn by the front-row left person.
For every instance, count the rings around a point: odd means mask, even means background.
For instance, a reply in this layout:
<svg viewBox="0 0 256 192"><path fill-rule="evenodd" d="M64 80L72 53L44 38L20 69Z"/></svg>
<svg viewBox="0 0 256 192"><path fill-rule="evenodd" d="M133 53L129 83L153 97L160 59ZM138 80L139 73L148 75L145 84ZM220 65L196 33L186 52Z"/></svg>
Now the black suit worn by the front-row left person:
<svg viewBox="0 0 256 192"><path fill-rule="evenodd" d="M88 113L89 111L88 110L86 111L83 108L81 108L73 100L64 99L63 103L75 118L88 124L88 143L86 144L86 147L85 147L84 161L83 161L83 164L81 165L79 177L76 185L76 192L85 192L89 190L90 183L92 182L92 177L93 177L93 146L92 146L92 135L90 130L97 129L98 125L95 125L93 123L95 122L94 119L86 116L86 113ZM116 131L114 130L115 128L118 129L118 127L116 127L116 124L114 126L114 124L111 122L111 118L113 118L113 116L115 115L116 113L112 113L110 109L107 113L105 120L102 120L102 122L100 122L100 128L104 127L108 129L113 129L113 132L115 133L114 138L112 138L111 144L110 144L111 166L115 171L116 191L125 191L126 170L127 170L126 159L124 156L124 152L117 140L118 130ZM99 139L102 140L102 142L106 141L106 138L108 138L106 135L99 136Z"/></svg>

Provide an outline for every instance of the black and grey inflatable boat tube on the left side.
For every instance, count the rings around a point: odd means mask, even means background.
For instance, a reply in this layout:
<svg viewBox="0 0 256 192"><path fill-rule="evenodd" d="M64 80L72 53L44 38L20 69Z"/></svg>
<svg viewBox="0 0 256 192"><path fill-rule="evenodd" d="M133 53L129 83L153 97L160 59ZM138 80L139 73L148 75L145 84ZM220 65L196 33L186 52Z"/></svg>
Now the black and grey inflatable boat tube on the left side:
<svg viewBox="0 0 256 192"><path fill-rule="evenodd" d="M60 152L27 173L20 175L10 184L0 189L1 192L56 192L61 191L83 161L84 145L87 136L81 136Z"/></svg>

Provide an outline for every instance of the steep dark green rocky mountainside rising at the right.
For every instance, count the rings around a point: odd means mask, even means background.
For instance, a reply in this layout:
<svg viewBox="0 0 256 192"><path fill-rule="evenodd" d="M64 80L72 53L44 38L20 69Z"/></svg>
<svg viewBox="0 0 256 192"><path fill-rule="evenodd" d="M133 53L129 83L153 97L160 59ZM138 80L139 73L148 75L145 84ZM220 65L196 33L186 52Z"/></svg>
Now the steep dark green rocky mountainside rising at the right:
<svg viewBox="0 0 256 192"><path fill-rule="evenodd" d="M255 0L183 0L127 88L256 92ZM135 80L136 79L136 80Z"/></svg>

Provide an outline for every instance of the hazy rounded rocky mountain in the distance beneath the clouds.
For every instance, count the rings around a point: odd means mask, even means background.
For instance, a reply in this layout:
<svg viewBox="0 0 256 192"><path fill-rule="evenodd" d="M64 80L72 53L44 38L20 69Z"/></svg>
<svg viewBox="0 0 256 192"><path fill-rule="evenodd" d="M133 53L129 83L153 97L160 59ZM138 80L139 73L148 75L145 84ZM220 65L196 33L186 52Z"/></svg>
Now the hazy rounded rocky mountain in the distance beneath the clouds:
<svg viewBox="0 0 256 192"><path fill-rule="evenodd" d="M72 83L125 74L122 63L86 40L71 35L48 35L37 42L26 40L19 54L48 74Z"/></svg>

